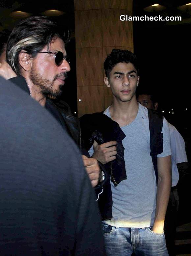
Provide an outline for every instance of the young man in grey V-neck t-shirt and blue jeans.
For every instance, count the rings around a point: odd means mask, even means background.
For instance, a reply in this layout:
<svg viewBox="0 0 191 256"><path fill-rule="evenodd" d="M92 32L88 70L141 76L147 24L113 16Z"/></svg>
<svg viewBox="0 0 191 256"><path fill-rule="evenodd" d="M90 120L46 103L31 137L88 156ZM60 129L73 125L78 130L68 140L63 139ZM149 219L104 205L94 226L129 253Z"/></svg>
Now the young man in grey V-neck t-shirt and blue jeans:
<svg viewBox="0 0 191 256"><path fill-rule="evenodd" d="M158 185L150 155L148 109L137 103L139 70L136 56L127 50L112 50L104 62L105 85L111 88L113 104L104 114L117 122L123 139L127 179L111 182L112 219L103 221L108 255L168 255L163 233L171 188L169 128L163 121L163 152L157 155ZM106 164L117 154L116 142L98 145L90 151Z"/></svg>

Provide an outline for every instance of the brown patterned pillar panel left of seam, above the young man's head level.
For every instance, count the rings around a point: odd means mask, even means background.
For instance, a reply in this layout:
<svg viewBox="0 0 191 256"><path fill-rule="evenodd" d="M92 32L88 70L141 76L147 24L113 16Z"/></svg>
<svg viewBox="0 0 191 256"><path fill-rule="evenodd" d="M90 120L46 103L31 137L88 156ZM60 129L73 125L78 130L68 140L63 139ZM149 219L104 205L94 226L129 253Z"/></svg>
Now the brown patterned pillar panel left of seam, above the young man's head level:
<svg viewBox="0 0 191 256"><path fill-rule="evenodd" d="M101 10L75 11L76 48L102 47Z"/></svg>

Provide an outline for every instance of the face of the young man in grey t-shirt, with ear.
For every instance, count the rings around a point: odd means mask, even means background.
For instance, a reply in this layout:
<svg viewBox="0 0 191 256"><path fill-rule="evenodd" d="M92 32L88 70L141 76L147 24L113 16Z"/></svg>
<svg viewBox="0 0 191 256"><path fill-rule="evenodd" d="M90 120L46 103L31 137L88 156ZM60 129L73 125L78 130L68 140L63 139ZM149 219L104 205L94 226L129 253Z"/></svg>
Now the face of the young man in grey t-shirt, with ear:
<svg viewBox="0 0 191 256"><path fill-rule="evenodd" d="M131 101L135 97L139 83L137 70L132 63L118 63L110 72L109 79L105 77L107 87L111 87L113 97L121 102Z"/></svg>

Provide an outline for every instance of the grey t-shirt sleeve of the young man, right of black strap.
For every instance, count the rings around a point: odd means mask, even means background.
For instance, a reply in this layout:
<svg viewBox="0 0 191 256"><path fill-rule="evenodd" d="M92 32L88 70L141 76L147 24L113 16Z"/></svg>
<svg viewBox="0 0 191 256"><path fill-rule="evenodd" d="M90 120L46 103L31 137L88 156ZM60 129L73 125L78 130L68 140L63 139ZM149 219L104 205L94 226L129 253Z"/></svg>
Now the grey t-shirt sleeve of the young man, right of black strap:
<svg viewBox="0 0 191 256"><path fill-rule="evenodd" d="M170 143L170 131L167 120L163 119L163 126L162 126L162 133L163 133L163 152L158 154L157 157L165 157L171 155L171 143Z"/></svg>

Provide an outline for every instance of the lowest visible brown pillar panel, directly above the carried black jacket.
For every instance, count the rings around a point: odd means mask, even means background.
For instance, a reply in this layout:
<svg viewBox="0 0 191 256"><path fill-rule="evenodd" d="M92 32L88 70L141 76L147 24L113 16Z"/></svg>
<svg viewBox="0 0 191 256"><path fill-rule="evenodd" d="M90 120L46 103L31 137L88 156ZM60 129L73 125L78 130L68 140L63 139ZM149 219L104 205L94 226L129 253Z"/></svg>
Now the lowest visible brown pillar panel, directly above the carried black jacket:
<svg viewBox="0 0 191 256"><path fill-rule="evenodd" d="M79 86L78 94L78 117L104 109L104 87L100 86ZM81 100L79 102L79 99Z"/></svg>

